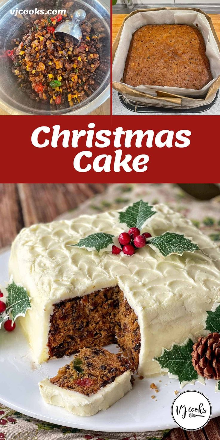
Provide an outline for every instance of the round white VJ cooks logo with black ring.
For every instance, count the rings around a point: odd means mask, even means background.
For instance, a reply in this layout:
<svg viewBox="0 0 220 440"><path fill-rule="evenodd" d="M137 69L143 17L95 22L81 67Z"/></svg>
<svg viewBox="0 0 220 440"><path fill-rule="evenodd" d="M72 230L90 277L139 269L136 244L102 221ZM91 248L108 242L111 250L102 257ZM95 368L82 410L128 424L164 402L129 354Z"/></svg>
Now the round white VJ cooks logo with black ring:
<svg viewBox="0 0 220 440"><path fill-rule="evenodd" d="M207 425L212 415L212 407L209 399L202 392L183 391L174 399L171 414L180 428L196 431Z"/></svg>

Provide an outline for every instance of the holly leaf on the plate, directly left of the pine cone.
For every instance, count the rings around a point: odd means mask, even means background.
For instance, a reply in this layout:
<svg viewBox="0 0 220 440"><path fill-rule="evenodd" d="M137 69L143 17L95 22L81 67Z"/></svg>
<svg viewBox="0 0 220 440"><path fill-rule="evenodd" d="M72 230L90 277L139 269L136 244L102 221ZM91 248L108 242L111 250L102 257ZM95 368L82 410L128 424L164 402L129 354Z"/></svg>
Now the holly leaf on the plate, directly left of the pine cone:
<svg viewBox="0 0 220 440"><path fill-rule="evenodd" d="M183 344L173 344L170 350L163 348L162 355L154 358L162 371L168 371L170 378L179 379L181 388L198 379L198 374L192 364L193 344L194 342L189 337Z"/></svg>

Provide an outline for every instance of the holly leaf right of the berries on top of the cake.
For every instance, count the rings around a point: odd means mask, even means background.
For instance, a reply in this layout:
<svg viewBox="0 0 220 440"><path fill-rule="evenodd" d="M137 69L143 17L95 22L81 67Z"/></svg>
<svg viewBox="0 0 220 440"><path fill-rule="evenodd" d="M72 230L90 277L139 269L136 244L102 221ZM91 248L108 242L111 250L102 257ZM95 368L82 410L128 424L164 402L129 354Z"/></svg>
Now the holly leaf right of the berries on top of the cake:
<svg viewBox="0 0 220 440"><path fill-rule="evenodd" d="M162 257L168 257L172 253L183 255L185 251L194 252L199 249L189 238L175 232L165 232L158 237L149 238L147 244Z"/></svg>

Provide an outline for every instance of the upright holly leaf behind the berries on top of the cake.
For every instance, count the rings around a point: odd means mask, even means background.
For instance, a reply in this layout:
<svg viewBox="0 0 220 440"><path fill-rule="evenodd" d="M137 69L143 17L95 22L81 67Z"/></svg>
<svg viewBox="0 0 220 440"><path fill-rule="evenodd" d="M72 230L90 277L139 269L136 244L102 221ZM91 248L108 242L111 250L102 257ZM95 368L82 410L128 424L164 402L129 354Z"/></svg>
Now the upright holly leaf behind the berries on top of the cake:
<svg viewBox="0 0 220 440"><path fill-rule="evenodd" d="M148 202L139 200L139 202L135 202L133 205L128 206L125 211L120 212L119 221L120 223L126 224L128 227L138 227L138 229L141 229L143 224L145 224L155 213L153 206L149 205Z"/></svg>

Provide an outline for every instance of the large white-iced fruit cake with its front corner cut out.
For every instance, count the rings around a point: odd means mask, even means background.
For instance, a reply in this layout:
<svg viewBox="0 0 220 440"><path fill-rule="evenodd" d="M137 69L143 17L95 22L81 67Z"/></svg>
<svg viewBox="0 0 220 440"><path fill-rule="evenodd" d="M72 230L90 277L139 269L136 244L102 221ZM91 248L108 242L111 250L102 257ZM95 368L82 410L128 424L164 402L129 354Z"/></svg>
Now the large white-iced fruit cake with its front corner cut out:
<svg viewBox="0 0 220 440"><path fill-rule="evenodd" d="M72 246L90 234L119 235L119 211L33 225L15 238L9 271L31 298L20 322L37 363L117 342L146 377L161 371L152 359L163 347L202 329L220 301L220 251L180 213L154 210L141 233L184 234L199 250L163 259L150 246L132 257Z"/></svg>

